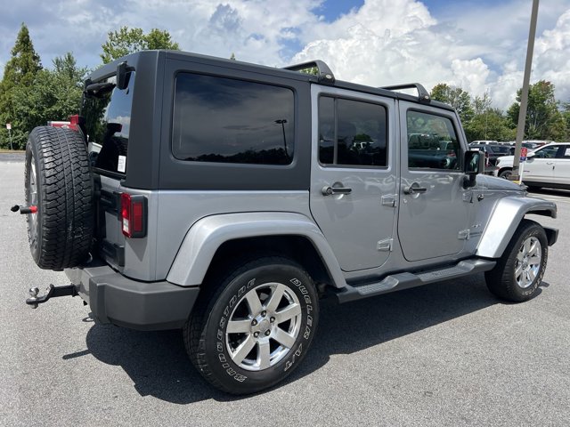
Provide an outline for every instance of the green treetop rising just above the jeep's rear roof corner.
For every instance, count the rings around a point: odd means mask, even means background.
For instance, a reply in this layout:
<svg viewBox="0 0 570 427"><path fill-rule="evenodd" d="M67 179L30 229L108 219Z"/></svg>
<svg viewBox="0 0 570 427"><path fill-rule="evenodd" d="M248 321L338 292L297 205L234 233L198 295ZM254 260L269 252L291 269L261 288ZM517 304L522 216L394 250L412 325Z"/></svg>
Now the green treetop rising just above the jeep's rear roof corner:
<svg viewBox="0 0 570 427"><path fill-rule="evenodd" d="M129 53L150 49L179 50L180 47L167 30L152 28L151 32L144 34L142 28L121 27L108 33L107 42L102 44L101 59L107 64Z"/></svg>

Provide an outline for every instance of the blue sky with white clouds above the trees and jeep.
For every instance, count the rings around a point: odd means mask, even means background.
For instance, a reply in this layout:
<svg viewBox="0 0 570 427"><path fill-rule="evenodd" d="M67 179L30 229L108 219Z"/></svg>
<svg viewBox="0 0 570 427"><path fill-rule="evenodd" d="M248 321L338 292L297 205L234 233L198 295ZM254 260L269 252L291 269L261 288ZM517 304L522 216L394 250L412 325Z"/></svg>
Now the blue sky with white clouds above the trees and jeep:
<svg viewBox="0 0 570 427"><path fill-rule="evenodd" d="M7 0L5 0L7 1ZM324 60L364 85L419 82L488 93L508 109L522 86L532 0L18 0L0 15L0 74L21 23L44 67L66 52L101 63L121 26L167 30L183 51L273 67ZM570 0L542 0L531 83L570 101Z"/></svg>

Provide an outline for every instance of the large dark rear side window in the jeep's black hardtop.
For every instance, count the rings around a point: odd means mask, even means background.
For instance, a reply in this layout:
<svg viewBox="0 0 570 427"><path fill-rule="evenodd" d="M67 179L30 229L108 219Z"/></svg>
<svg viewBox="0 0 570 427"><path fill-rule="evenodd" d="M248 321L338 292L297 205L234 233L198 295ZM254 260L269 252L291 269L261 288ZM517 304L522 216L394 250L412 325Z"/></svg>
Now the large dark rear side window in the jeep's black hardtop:
<svg viewBox="0 0 570 427"><path fill-rule="evenodd" d="M295 154L291 89L181 73L172 152L195 162L289 165Z"/></svg>

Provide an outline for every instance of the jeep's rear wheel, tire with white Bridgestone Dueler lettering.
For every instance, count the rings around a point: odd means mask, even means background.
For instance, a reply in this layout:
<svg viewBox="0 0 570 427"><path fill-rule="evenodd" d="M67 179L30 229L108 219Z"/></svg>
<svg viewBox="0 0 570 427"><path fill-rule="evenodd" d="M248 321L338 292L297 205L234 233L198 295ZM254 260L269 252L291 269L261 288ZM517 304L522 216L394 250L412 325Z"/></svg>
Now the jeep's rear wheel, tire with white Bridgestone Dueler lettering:
<svg viewBox="0 0 570 427"><path fill-rule="evenodd" d="M263 367L260 363L259 367L243 366L242 362L236 363L232 359L232 354L235 357L236 353L232 353L232 350L228 349L227 340L228 337L234 335L232 332L228 333L227 328L234 319L232 313L235 313L235 310L239 310L239 308L241 309L242 304L249 304L248 293L256 292L264 295L265 284L267 286L281 286L281 289L285 289L283 292L295 301L291 303L291 306L294 306L295 310L299 310L298 307L300 307L300 312L297 311L299 314L295 315L295 320L290 320L291 323L288 323L289 320L281 323L285 326L295 325L296 338L290 348L285 345L280 346L279 340L273 342L273 349L276 347L277 350L273 350L272 355L280 354L281 351L282 357L275 357L271 365L268 364ZM186 350L199 373L209 383L232 394L262 391L290 375L305 358L318 323L318 296L308 274L296 262L281 256L272 256L243 262L240 267L232 270L227 277L216 280L214 283L208 283L207 286L204 293L200 294L199 301L192 310L191 318L183 330ZM270 308L270 296L265 302L260 296L261 308L259 310ZM287 305L287 298L285 296L282 298L281 302ZM281 312L276 311L276 322L281 321L279 318ZM247 322L249 321L251 320L247 320ZM246 324L248 324L247 322ZM235 323L234 321L234 325ZM279 328L280 325L276 323L271 327ZM275 333L282 332L271 329L270 332L272 331ZM270 332L265 330L267 335ZM243 335L245 336L243 342L253 340L254 334L252 332L244 332ZM263 339L263 331L261 335ZM273 335L267 339L268 342L272 342L272 340ZM261 354L262 344L256 345L259 347L255 347L252 351L255 352L255 349L259 348L258 354Z"/></svg>

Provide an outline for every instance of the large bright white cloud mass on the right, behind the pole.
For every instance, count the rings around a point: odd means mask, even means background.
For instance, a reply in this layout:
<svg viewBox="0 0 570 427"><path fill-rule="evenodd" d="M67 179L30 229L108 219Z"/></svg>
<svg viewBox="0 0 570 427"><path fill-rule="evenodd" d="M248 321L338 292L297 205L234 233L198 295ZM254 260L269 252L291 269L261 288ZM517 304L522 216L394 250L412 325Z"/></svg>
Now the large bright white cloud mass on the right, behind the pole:
<svg viewBox="0 0 570 427"><path fill-rule="evenodd" d="M507 109L522 85L530 20L530 9L519 5L518 0L484 4L485 10L464 11L450 23L435 20L414 0L368 0L360 10L307 31L309 38L321 38L307 43L294 60L325 60L338 78L365 85L417 81L428 88L457 85L473 96L490 92L494 105ZM550 80L558 99L568 99L570 9L536 46L533 82Z"/></svg>

